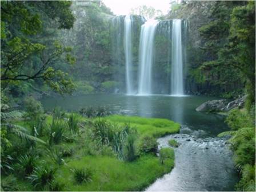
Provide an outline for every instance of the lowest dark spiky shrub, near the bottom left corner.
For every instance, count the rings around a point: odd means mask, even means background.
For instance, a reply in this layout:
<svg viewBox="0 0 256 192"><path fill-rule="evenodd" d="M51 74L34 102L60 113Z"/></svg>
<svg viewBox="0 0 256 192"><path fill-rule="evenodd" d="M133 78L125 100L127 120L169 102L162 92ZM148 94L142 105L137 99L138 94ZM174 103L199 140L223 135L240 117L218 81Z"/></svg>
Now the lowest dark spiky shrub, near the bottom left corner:
<svg viewBox="0 0 256 192"><path fill-rule="evenodd" d="M33 173L27 177L33 184L35 189L43 189L47 185L50 185L54 180L54 173L56 169L45 167L37 167Z"/></svg>

